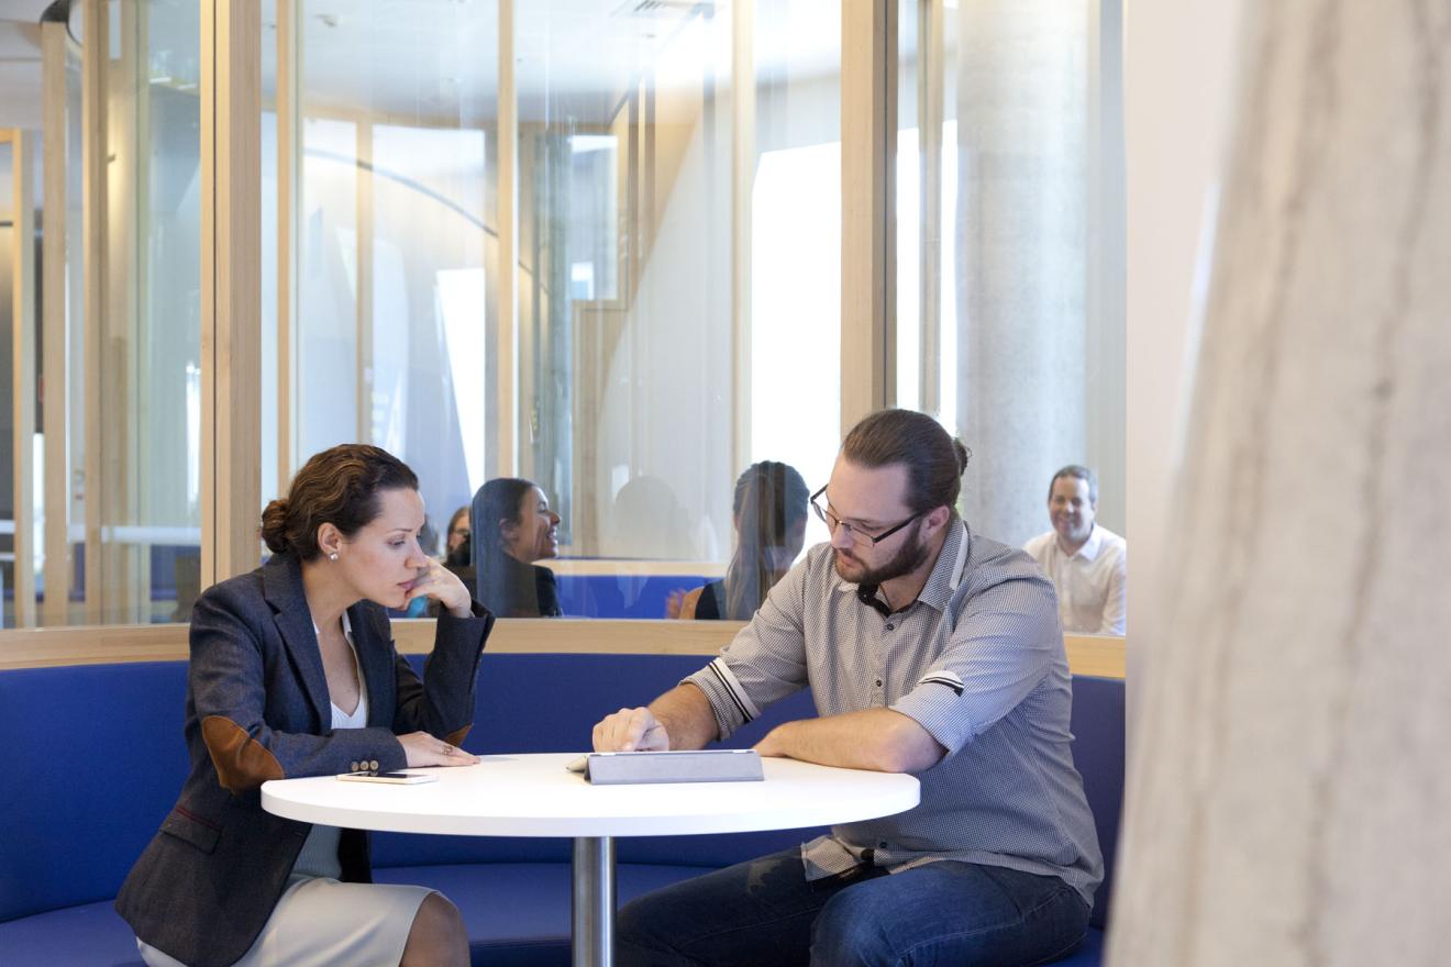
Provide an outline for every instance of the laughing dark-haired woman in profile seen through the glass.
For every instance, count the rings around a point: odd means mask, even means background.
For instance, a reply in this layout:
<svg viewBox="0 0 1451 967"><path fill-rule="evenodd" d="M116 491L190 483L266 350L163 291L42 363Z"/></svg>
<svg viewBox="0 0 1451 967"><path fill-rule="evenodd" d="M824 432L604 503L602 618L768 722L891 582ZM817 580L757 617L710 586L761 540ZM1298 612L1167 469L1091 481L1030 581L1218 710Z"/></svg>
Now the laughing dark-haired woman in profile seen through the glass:
<svg viewBox="0 0 1451 967"><path fill-rule="evenodd" d="M479 487L470 512L479 600L499 618L557 618L559 515L534 481L498 477Z"/></svg>

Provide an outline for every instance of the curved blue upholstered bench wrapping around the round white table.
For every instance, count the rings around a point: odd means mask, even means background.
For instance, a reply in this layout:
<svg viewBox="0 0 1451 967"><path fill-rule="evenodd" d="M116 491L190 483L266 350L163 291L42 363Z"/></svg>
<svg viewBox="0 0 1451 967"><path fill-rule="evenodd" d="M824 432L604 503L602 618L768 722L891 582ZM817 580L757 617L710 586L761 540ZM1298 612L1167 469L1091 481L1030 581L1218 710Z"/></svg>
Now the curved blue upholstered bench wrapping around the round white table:
<svg viewBox="0 0 1451 967"><path fill-rule="evenodd" d="M702 664L691 655L485 655L473 752L572 751L604 710L647 700ZM421 660L416 661L421 664ZM1113 855L1123 786L1123 683L1075 678L1075 757ZM0 671L0 964L139 964L110 902L186 774L184 663ZM808 696L769 709L733 744L811 713ZM817 831L617 842L622 900L781 850ZM380 881L421 883L463 912L473 961L569 963L567 839L374 837ZM1064 964L1100 963L1096 929Z"/></svg>

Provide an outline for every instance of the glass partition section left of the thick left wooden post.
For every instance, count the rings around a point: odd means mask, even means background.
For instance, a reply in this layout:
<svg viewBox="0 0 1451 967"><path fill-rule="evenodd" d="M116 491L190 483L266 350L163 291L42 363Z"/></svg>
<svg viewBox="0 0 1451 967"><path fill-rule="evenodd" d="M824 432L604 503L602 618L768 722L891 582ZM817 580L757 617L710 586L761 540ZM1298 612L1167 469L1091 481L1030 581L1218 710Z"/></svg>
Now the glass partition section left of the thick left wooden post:
<svg viewBox="0 0 1451 967"><path fill-rule="evenodd" d="M6 336L23 355L6 367L4 476L23 481L6 626L184 621L202 544L200 10L73 4L41 35L45 130L23 132L36 270L7 273L28 296Z"/></svg>

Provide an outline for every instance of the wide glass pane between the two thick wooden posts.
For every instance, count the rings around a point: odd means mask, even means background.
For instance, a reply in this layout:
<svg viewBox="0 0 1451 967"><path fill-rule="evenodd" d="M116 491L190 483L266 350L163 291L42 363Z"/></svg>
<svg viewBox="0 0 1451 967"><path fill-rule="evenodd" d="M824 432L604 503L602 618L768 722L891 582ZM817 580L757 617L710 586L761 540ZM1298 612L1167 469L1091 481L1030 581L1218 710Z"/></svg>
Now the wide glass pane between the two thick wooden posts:
<svg viewBox="0 0 1451 967"><path fill-rule="evenodd" d="M665 616L723 573L747 464L830 471L836 17L800 0L326 9L264 12L299 38L281 464L385 447L435 534L486 480L524 477L560 515L546 563L566 615ZM281 422L263 426L271 452Z"/></svg>

